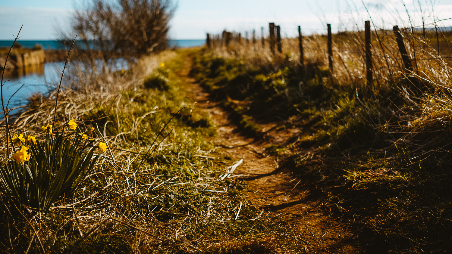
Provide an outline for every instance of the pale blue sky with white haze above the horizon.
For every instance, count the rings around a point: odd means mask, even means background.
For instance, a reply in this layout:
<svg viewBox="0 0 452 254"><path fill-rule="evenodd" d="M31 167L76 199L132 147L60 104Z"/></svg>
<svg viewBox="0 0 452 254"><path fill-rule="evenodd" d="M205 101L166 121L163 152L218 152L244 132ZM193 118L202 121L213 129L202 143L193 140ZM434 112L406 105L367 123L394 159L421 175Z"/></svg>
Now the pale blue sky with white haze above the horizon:
<svg viewBox="0 0 452 254"><path fill-rule="evenodd" d="M427 23L433 16L452 18L452 0L419 0ZM433 2L433 10L432 10ZM408 25L401 0L364 0L378 27L392 28ZM0 0L0 40L12 39L23 24L21 35L26 39L54 39L55 27L68 29L67 19L74 0ZM405 0L414 25L420 25L418 0ZM368 19L361 0L179 0L171 21L170 37L174 39L203 39L206 32L223 29L252 31L268 30L268 23L281 25L283 35L294 36L297 26L304 33L324 32L326 23L334 30L356 27ZM403 22L402 22L403 20ZM452 25L452 19L440 23Z"/></svg>

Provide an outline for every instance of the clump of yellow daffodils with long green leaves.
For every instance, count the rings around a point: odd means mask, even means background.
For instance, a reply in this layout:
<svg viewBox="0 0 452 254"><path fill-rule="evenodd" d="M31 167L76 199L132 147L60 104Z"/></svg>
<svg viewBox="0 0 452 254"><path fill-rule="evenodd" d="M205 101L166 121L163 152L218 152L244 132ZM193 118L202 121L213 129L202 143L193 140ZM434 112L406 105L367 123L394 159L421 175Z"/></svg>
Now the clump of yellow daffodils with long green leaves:
<svg viewBox="0 0 452 254"><path fill-rule="evenodd" d="M95 136L93 127L81 128L75 119L58 131L53 128L44 125L40 128L43 133L36 136L11 134L9 144L14 152L0 169L2 188L19 203L40 211L48 211L60 197L72 195L108 148L90 137Z"/></svg>

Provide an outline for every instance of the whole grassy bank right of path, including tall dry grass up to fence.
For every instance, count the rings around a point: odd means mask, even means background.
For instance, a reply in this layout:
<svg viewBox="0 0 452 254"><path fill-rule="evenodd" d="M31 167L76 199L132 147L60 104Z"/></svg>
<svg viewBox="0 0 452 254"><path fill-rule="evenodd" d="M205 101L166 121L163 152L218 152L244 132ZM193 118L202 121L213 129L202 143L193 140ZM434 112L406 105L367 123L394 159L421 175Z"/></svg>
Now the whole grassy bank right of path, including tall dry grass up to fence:
<svg viewBox="0 0 452 254"><path fill-rule="evenodd" d="M267 40L262 47L233 39L195 55L193 74L219 99L236 100L227 105L240 106L242 119L300 130L278 144L291 151L286 168L305 177L298 188L321 188L325 211L358 227L369 251L446 251L450 34L439 34L441 54L433 39L410 29L402 34L414 72L403 68L392 31L372 31L370 85L358 29L333 35L332 72L327 38L314 34L303 40L304 69L297 38L283 39L281 54Z"/></svg>

